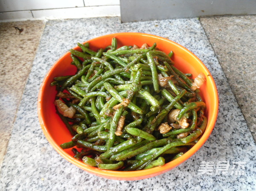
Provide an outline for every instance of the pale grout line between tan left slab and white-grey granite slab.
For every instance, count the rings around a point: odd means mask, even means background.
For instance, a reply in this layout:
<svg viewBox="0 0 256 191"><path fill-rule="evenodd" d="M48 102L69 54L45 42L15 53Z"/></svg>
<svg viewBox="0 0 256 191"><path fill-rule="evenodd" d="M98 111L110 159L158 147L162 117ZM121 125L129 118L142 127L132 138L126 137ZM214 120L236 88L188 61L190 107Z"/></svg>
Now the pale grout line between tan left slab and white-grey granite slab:
<svg viewBox="0 0 256 191"><path fill-rule="evenodd" d="M37 51L38 51L38 46L39 46L39 43L40 43L40 41L41 41L41 37L42 37L42 35L43 35L46 22L47 22L47 21L44 21L44 26L43 26L42 29L41 29L41 36L40 36L40 38L39 38L39 40L38 40L38 43L37 43L37 46L36 46L37 48L36 48L36 51L35 51L35 55L36 55L36 53L37 53ZM14 126L15 121L16 121L16 118L17 118L17 112L18 112L18 110L19 110L19 108L20 108L20 103L21 103L21 100L22 100L22 97L23 97L23 94L24 94L24 90L25 90L25 88L26 88L26 84L27 84L27 81L28 81L28 78L29 78L29 74L30 74L30 72L31 72L31 69L32 69L32 66L33 66L33 63L34 63L34 60L35 60L35 55L34 55L34 58L33 58L33 60L32 60L32 62L31 62L31 64L30 64L30 66L29 66L29 73L28 73L28 75L27 75L27 77L26 77L26 83L25 83L25 86L23 87L23 90L22 90L22 93L21 93L21 95L20 95L20 99L19 99L19 102L18 102L18 106L17 106L16 111L15 111L15 117L14 117L14 119L13 119L13 121L12 121L12 128L11 128L11 131L10 131L9 140L11 139L11 136L12 136L12 129L13 129L13 126ZM6 144L6 148L5 148L5 151L4 151L4 154L3 154L3 159L2 159L2 161L0 162L0 171L1 171L1 168L2 168L2 165L3 165L3 160L4 160L5 156L6 156L6 151L7 151L8 145L9 145L9 140L7 141L7 144Z"/></svg>

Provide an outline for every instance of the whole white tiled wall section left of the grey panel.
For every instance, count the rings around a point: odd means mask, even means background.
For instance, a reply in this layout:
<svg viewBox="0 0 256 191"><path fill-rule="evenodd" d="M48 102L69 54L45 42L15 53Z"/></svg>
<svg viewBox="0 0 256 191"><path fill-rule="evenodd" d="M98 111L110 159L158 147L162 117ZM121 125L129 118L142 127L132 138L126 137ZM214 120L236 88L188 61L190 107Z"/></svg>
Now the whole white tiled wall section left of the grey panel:
<svg viewBox="0 0 256 191"><path fill-rule="evenodd" d="M120 16L119 0L0 0L0 20Z"/></svg>

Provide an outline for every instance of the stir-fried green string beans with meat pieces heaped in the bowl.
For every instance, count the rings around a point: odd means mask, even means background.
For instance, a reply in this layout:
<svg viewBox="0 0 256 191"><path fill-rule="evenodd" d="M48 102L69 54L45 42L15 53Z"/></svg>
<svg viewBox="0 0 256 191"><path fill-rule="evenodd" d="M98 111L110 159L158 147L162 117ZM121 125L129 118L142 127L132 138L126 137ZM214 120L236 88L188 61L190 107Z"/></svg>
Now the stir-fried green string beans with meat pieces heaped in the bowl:
<svg viewBox="0 0 256 191"><path fill-rule="evenodd" d="M182 156L207 126L197 80L152 46L70 50L74 75L55 77L57 113L77 160L105 170L134 171ZM195 78L194 78L195 79ZM197 88L195 88L195 87Z"/></svg>

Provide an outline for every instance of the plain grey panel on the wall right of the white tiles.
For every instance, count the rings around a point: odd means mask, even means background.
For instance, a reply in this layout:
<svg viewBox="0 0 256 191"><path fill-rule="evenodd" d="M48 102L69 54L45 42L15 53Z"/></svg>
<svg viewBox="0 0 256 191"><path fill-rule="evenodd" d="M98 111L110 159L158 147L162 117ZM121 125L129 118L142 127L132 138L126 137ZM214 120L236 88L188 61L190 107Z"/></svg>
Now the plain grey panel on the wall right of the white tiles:
<svg viewBox="0 0 256 191"><path fill-rule="evenodd" d="M256 14L256 0L120 0L122 22Z"/></svg>

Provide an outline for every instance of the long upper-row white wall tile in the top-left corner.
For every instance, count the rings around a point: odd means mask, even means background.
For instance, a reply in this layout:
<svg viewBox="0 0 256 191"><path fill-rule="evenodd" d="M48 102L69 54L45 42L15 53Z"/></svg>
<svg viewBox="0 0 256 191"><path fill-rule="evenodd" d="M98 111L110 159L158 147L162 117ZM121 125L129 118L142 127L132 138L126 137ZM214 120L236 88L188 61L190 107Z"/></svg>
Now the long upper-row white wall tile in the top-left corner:
<svg viewBox="0 0 256 191"><path fill-rule="evenodd" d="M83 0L0 0L0 12L83 7Z"/></svg>

